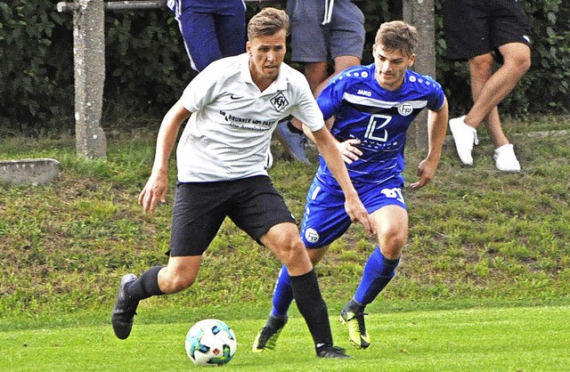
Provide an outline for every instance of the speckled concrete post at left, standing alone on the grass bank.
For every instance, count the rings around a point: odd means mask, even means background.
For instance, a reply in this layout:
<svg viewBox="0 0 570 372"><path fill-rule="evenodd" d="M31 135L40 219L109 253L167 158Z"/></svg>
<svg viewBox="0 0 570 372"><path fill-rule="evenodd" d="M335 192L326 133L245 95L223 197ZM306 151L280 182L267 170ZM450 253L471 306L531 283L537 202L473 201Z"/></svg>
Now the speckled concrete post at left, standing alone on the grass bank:
<svg viewBox="0 0 570 372"><path fill-rule="evenodd" d="M100 125L105 81L105 8L103 0L78 0L73 13L77 155L106 158L107 139Z"/></svg>

